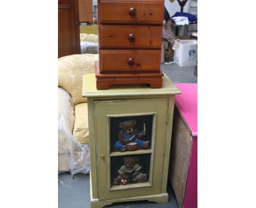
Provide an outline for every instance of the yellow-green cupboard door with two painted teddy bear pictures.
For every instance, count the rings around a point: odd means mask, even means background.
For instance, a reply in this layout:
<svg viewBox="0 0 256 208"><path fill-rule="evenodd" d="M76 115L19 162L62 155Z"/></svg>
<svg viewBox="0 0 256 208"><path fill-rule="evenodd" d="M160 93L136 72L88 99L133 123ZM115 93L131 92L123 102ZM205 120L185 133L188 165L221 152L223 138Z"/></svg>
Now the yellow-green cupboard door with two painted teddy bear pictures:
<svg viewBox="0 0 256 208"><path fill-rule="evenodd" d="M161 193L168 99L95 101L100 200Z"/></svg>

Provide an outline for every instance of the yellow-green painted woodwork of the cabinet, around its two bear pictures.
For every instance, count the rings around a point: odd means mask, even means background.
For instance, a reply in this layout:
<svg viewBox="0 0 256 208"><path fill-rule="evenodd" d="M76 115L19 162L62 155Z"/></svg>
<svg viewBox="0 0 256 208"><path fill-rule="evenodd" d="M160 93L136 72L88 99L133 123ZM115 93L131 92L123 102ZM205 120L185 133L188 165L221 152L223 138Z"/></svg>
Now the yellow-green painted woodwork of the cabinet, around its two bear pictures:
<svg viewBox="0 0 256 208"><path fill-rule="evenodd" d="M166 203L168 163L170 157L174 95L181 93L164 76L163 87L151 89L146 84L113 86L97 90L95 74L83 77L83 96L88 97L91 151L91 207L103 207L114 202L149 200ZM154 145L149 150L110 152L107 115L155 114ZM109 185L109 158L113 156L151 154L149 182ZM102 157L102 155L104 157ZM143 186L146 185L146 186ZM114 188L113 188L114 187ZM110 191L109 191L110 189ZM113 190L113 191L112 191Z"/></svg>

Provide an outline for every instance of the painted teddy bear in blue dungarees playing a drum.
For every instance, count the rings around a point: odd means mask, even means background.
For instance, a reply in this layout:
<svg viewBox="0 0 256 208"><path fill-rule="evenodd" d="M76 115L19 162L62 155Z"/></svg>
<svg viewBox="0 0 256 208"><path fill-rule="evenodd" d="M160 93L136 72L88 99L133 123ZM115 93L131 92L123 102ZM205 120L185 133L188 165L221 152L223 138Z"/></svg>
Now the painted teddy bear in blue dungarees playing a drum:
<svg viewBox="0 0 256 208"><path fill-rule="evenodd" d="M141 140L142 137L146 135L146 131L139 133L135 129L136 120L124 121L119 124L122 129L118 134L119 141L115 143L115 148L119 149L121 152L126 150L126 144L130 142L136 142L137 146L142 148L147 148L149 145L148 141Z"/></svg>

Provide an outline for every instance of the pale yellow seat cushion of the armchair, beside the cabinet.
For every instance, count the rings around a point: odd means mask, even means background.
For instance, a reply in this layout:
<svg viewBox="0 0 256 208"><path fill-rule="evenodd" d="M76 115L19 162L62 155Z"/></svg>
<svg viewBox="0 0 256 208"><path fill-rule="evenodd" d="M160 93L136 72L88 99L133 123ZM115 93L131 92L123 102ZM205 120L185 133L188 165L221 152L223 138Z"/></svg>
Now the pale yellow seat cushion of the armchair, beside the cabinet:
<svg viewBox="0 0 256 208"><path fill-rule="evenodd" d="M87 102L75 106L74 139L80 143L89 143Z"/></svg>

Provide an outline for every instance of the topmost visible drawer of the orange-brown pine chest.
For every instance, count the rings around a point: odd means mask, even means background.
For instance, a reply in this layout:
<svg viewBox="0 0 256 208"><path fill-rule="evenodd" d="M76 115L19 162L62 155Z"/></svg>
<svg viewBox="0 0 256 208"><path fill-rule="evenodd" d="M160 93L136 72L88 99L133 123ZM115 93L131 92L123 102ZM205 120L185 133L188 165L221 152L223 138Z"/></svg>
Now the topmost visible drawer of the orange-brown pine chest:
<svg viewBox="0 0 256 208"><path fill-rule="evenodd" d="M162 25L164 1L99 1L99 23Z"/></svg>

